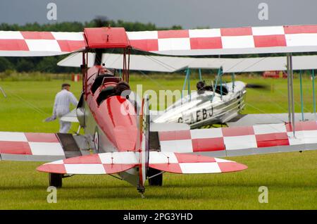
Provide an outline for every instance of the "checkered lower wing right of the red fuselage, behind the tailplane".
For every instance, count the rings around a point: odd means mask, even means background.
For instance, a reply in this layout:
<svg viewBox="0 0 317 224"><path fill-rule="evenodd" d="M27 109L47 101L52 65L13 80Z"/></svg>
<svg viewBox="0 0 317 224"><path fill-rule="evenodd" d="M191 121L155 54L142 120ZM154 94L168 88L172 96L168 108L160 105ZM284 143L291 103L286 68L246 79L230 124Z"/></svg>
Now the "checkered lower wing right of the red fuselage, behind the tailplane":
<svg viewBox="0 0 317 224"><path fill-rule="evenodd" d="M161 131L158 132L159 142L151 144L159 146L162 152L194 152L209 156L242 156L317 149L316 121L295 123L295 130L294 137L291 125L280 123Z"/></svg>

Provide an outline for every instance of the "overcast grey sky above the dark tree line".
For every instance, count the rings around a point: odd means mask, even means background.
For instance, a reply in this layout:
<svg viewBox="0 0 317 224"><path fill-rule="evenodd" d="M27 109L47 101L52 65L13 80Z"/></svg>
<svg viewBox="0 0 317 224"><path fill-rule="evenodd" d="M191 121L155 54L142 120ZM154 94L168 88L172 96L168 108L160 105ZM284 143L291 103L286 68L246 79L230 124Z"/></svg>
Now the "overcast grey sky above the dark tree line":
<svg viewBox="0 0 317 224"><path fill-rule="evenodd" d="M56 3L57 20L46 18ZM268 20L259 20L260 3ZM239 27L317 24L316 0L0 0L0 23L89 21L97 15L112 20L155 23L159 27Z"/></svg>

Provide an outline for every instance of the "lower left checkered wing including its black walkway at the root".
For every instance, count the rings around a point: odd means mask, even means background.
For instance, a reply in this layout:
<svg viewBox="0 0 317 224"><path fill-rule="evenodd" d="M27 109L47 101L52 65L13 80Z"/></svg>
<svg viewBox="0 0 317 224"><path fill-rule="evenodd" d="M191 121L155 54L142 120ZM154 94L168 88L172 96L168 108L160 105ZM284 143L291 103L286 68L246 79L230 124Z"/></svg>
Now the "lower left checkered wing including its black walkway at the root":
<svg viewBox="0 0 317 224"><path fill-rule="evenodd" d="M71 134L0 132L0 160L56 161L81 156L77 142Z"/></svg>

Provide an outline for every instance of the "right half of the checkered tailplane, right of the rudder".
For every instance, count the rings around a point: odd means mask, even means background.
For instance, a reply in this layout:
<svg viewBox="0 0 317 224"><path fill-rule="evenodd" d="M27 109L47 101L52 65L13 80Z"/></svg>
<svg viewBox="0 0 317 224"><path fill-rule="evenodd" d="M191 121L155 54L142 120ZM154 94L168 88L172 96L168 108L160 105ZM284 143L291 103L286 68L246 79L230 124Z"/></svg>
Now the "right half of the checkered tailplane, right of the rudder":
<svg viewBox="0 0 317 224"><path fill-rule="evenodd" d="M149 167L170 173L227 173L247 166L221 158L193 154L150 151Z"/></svg>

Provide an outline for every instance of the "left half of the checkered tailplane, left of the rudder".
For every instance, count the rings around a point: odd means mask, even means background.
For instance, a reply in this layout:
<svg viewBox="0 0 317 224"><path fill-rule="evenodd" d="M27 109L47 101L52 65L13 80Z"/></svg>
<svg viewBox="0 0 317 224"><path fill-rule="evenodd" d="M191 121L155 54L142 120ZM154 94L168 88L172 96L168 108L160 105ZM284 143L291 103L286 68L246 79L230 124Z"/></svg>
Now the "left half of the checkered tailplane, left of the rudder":
<svg viewBox="0 0 317 224"><path fill-rule="evenodd" d="M37 170L62 174L112 174L129 170L139 165L138 152L113 152L77 156L45 163Z"/></svg>

